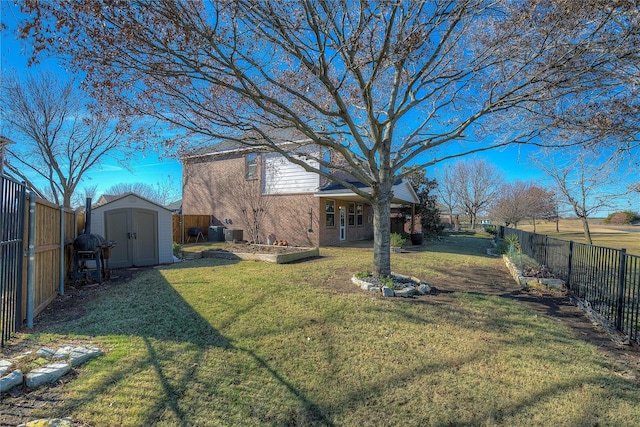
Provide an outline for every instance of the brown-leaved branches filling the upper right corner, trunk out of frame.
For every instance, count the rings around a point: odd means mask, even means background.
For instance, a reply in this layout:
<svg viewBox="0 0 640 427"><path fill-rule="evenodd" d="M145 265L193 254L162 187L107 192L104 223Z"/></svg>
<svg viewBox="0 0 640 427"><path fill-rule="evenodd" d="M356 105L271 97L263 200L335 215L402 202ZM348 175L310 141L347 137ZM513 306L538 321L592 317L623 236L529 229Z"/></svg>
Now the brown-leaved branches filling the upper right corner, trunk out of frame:
<svg viewBox="0 0 640 427"><path fill-rule="evenodd" d="M587 37L578 54L565 64L569 71L566 83L577 90L576 95L557 99L547 106L546 114L537 117L552 125L554 132L548 138L571 140L574 144L606 145L619 153L637 151L640 147L638 3L630 0L554 0L553 3L562 10L559 20L538 14L531 4L523 5L529 10L527 19L540 34L549 34L553 28L560 43L580 34ZM613 19L603 22L597 18L602 14L609 14ZM595 17L591 25L600 26L600 31L587 35L580 23L586 22L589 16ZM569 48L569 44L566 46ZM587 64L590 66L585 66ZM578 70L581 71L576 72Z"/></svg>

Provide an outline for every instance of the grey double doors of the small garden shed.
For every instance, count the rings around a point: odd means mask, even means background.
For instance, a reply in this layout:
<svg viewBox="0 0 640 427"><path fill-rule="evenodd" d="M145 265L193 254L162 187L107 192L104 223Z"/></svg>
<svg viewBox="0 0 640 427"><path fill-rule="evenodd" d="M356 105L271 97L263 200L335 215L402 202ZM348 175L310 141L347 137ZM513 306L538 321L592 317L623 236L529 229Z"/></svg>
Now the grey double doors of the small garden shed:
<svg viewBox="0 0 640 427"><path fill-rule="evenodd" d="M109 268L158 264L158 212L123 208L105 212L105 238L116 242Z"/></svg>

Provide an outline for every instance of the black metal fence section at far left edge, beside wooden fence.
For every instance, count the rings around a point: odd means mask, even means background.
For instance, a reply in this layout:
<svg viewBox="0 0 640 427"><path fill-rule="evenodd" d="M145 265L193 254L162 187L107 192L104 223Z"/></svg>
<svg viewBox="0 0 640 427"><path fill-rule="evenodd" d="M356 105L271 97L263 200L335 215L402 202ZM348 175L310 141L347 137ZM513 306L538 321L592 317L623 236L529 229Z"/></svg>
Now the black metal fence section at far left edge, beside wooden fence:
<svg viewBox="0 0 640 427"><path fill-rule="evenodd" d="M0 347L22 326L26 188L0 176Z"/></svg>

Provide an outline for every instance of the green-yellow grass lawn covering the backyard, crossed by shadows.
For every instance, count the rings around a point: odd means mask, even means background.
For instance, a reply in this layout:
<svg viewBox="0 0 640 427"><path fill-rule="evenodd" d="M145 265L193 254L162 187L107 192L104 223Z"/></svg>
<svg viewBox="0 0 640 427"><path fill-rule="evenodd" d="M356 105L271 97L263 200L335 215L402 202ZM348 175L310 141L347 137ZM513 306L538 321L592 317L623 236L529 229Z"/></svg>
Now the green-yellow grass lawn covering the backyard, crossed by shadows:
<svg viewBox="0 0 640 427"><path fill-rule="evenodd" d="M486 241L394 254L394 271L446 283L501 269ZM24 335L82 339L79 368L41 416L88 425L635 425L640 386L557 320L458 292L451 304L340 294L372 252L327 248L289 265L201 259L104 291L69 322ZM447 273L451 272L451 273ZM470 283L472 285L472 283ZM355 285L354 285L355 286Z"/></svg>

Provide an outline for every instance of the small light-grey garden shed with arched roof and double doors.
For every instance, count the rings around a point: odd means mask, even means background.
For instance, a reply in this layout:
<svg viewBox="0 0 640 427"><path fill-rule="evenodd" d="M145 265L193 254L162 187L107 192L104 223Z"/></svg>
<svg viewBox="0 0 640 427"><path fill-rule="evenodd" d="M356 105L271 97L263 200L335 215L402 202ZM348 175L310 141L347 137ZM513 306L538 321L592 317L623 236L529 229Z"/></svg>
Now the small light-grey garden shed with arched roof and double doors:
<svg viewBox="0 0 640 427"><path fill-rule="evenodd" d="M173 262L171 211L134 193L91 210L91 233L113 240L108 268Z"/></svg>

